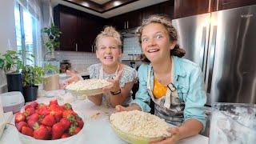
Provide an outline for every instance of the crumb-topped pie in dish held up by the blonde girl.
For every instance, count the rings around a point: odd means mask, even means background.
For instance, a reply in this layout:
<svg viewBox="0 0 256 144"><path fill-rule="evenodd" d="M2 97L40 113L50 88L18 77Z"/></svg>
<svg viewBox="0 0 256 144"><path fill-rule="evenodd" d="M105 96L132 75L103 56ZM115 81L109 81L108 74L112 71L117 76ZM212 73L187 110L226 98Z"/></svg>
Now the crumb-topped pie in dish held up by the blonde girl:
<svg viewBox="0 0 256 144"><path fill-rule="evenodd" d="M66 91L70 92L74 97L82 99L86 98L86 96L102 94L102 88L111 85L112 83L105 79L85 79L66 86Z"/></svg>

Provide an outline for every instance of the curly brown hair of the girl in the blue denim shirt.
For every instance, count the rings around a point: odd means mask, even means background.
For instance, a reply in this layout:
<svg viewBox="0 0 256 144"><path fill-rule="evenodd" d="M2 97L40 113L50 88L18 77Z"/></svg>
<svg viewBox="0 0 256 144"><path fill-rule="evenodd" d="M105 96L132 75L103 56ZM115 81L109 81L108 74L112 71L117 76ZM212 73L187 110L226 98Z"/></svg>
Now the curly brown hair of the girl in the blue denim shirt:
<svg viewBox="0 0 256 144"><path fill-rule="evenodd" d="M151 23L159 23L164 26L169 34L169 39L170 41L177 41L178 39L178 34L177 30L175 30L174 26L171 25L171 20L168 18L166 15L159 15L159 14L154 14L151 15L150 18L147 18L143 20L142 26L138 27L138 30L136 31L136 34L138 36L138 42L142 44L142 30L144 29L145 26L151 24ZM183 57L186 54L186 51L183 50L182 48L179 47L178 44L174 46L173 50L170 50L170 55L175 55L178 57ZM141 55L141 59L143 62L150 62L145 54Z"/></svg>

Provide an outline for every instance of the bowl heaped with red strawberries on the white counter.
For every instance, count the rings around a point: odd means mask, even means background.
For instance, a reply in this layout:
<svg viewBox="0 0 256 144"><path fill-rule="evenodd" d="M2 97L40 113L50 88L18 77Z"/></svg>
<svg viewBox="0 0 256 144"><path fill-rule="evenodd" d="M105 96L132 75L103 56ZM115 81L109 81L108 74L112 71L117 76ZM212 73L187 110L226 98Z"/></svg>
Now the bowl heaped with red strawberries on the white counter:
<svg viewBox="0 0 256 144"><path fill-rule="evenodd" d="M76 142L82 137L84 121L70 103L58 105L56 99L50 104L30 102L15 114L15 126L23 143L57 144Z"/></svg>

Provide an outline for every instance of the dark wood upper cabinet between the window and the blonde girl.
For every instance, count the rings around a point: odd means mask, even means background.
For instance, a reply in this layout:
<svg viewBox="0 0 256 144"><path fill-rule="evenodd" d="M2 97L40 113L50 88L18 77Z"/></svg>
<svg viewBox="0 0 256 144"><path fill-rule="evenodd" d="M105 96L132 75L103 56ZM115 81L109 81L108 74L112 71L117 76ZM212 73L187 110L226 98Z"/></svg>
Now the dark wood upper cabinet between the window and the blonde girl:
<svg viewBox="0 0 256 144"><path fill-rule="evenodd" d="M54 7L54 23L62 31L58 50L92 52L104 19L68 6Z"/></svg>

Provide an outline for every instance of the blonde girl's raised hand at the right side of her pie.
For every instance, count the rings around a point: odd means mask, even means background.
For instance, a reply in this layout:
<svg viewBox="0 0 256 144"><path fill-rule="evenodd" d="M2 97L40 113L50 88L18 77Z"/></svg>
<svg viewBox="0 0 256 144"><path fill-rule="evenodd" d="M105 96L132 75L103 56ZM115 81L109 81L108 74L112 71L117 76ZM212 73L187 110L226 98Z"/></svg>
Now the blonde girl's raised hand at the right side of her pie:
<svg viewBox="0 0 256 144"><path fill-rule="evenodd" d="M117 91L119 91L120 90L119 81L120 81L121 76L122 76L122 70L119 70L118 75L114 79L108 79L107 81L111 82L112 85L107 86L107 87L103 87L102 88L103 92L109 92L109 91L117 92Z"/></svg>

